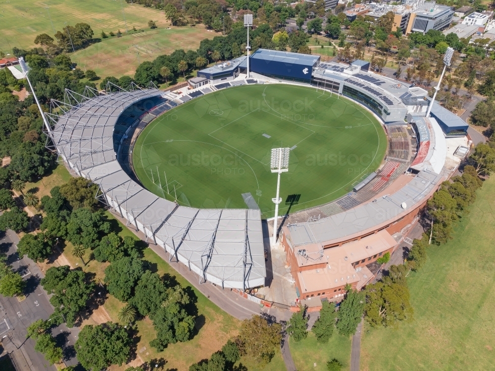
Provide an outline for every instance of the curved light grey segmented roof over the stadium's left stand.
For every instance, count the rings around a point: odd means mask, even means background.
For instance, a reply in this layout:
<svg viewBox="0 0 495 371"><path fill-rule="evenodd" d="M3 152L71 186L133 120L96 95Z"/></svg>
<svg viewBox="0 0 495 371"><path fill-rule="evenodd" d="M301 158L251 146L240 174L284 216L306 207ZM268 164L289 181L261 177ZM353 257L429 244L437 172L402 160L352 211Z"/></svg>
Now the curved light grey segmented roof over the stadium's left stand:
<svg viewBox="0 0 495 371"><path fill-rule="evenodd" d="M239 289L264 285L259 210L179 206L136 183L117 161L113 128L119 115L160 94L148 89L82 98L58 117L50 133L58 154L76 173L99 185L100 197L113 212L163 247L170 260L195 271L200 281Z"/></svg>

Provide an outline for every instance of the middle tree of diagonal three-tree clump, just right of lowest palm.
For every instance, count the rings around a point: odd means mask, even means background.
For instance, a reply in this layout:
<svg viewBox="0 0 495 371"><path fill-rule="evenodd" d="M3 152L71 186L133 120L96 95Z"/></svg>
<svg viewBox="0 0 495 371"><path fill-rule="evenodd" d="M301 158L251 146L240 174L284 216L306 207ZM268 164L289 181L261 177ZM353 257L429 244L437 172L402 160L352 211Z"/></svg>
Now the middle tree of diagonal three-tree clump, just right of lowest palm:
<svg viewBox="0 0 495 371"><path fill-rule="evenodd" d="M141 276L129 302L138 309L141 316L153 315L166 300L166 290L160 276L147 270Z"/></svg>

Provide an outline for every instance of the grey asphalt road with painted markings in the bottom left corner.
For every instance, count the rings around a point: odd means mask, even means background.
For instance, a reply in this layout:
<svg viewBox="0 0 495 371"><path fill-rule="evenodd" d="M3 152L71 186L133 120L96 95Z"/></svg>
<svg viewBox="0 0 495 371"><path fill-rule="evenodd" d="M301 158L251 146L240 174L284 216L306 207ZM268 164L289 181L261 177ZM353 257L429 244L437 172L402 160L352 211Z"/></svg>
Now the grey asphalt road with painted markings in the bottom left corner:
<svg viewBox="0 0 495 371"><path fill-rule="evenodd" d="M39 284L44 276L41 270L27 257L19 259L16 252L18 241L14 232L0 232L0 252L7 255L8 263L16 271L21 272L26 280L26 299L22 302L19 302L16 297L8 298L0 295L2 307L0 311L0 336L3 337L3 345L7 352L14 349L21 350L32 371L56 371L55 366L50 366L44 355L34 350L35 341L26 338L27 327L38 319L48 319L53 313L53 307L49 303L49 296L46 291ZM78 364L73 348L78 333L79 329L69 329L65 324L52 329L52 335L55 337L57 345L63 349L64 361L67 366Z"/></svg>

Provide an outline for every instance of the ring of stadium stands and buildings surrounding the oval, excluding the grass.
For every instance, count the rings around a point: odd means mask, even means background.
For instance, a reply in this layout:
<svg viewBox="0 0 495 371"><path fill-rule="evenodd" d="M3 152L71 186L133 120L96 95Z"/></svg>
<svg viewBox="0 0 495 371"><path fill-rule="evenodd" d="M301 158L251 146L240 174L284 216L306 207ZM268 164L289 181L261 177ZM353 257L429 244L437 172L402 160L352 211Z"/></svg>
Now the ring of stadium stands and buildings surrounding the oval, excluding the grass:
<svg viewBox="0 0 495 371"><path fill-rule="evenodd" d="M377 259L397 248L401 232L460 162L453 153L458 144L467 145L467 124L436 104L426 118L424 89L370 72L367 62L345 65L258 50L251 56L251 79L240 75L246 62L241 57L199 71L198 86L190 85L184 95L135 85L110 93L112 87L104 95L67 90L64 102L53 101L62 109L49 114L48 134L73 173L98 184L99 199L111 212L161 246L170 261L186 265L199 282L245 291L265 285L260 211L197 209L154 195L134 174L133 143L158 115L231 86L305 84L354 100L383 121L389 138L385 161L346 196L288 215L279 241L299 299L334 299L347 285L362 288L380 269Z"/></svg>

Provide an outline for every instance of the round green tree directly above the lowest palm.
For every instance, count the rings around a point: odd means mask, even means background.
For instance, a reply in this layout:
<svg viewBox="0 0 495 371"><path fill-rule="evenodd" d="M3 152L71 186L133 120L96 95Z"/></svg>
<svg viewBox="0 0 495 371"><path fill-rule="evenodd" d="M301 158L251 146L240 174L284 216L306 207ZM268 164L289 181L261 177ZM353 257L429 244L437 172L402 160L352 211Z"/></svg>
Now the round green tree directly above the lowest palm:
<svg viewBox="0 0 495 371"><path fill-rule="evenodd" d="M105 269L106 288L118 300L127 302L142 275L143 262L140 259L125 257L116 260Z"/></svg>

